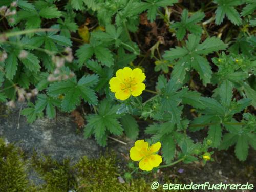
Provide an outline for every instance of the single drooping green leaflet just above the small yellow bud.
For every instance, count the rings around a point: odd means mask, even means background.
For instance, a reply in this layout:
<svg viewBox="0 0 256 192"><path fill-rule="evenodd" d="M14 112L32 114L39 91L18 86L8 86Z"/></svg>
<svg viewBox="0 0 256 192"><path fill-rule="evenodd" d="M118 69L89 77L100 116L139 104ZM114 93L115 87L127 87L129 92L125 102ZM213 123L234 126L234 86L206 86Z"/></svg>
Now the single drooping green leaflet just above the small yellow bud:
<svg viewBox="0 0 256 192"><path fill-rule="evenodd" d="M209 126L207 139L212 140L212 146L217 148L220 145L222 129L220 123Z"/></svg>

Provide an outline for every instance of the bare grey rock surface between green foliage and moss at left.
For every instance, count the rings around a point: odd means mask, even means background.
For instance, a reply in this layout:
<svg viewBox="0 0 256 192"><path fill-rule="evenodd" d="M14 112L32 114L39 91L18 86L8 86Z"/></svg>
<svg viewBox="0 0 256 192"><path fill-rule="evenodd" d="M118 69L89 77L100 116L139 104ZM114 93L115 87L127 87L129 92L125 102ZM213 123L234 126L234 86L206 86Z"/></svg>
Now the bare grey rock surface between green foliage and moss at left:
<svg viewBox="0 0 256 192"><path fill-rule="evenodd" d="M85 155L88 158L100 155L102 148L94 139L84 139L82 131L77 131L68 115L58 114L56 119L43 118L28 124L26 117L19 115L22 105L16 105L16 108L0 112L0 137L6 142L16 143L28 155L35 150L57 160L71 158L71 162Z"/></svg>

